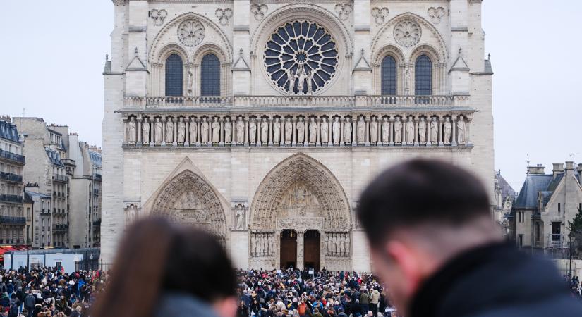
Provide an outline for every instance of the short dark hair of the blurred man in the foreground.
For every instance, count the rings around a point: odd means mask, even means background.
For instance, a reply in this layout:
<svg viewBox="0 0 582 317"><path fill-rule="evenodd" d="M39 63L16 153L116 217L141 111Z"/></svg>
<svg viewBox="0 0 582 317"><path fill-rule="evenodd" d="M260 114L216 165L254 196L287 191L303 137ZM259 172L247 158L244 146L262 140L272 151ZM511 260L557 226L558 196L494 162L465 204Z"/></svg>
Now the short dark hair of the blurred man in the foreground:
<svg viewBox="0 0 582 317"><path fill-rule="evenodd" d="M483 183L444 161L413 159L385 170L361 194L358 217L372 247L395 228L423 223L461 225L491 216Z"/></svg>

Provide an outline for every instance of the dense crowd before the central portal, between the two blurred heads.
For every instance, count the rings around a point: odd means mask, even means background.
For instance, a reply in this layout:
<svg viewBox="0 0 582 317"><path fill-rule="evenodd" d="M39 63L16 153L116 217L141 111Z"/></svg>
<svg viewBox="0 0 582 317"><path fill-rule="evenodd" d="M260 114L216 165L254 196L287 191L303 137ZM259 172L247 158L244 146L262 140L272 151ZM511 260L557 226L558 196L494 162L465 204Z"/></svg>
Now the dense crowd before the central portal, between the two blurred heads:
<svg viewBox="0 0 582 317"><path fill-rule="evenodd" d="M374 275L307 269L237 271L238 317L396 317Z"/></svg>

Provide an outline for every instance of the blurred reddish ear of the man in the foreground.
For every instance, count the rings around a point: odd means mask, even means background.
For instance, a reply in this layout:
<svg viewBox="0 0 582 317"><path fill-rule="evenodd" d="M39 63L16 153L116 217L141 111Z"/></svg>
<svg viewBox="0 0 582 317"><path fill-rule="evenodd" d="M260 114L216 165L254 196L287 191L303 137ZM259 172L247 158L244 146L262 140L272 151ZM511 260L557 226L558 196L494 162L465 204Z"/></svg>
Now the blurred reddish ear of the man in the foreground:
<svg viewBox="0 0 582 317"><path fill-rule="evenodd" d="M398 240L391 240L386 244L386 253L392 258L392 261L394 261L406 280L404 292L408 297L416 293L420 282L423 280L423 271L420 263L423 259L418 255L417 251L409 244L404 244Z"/></svg>

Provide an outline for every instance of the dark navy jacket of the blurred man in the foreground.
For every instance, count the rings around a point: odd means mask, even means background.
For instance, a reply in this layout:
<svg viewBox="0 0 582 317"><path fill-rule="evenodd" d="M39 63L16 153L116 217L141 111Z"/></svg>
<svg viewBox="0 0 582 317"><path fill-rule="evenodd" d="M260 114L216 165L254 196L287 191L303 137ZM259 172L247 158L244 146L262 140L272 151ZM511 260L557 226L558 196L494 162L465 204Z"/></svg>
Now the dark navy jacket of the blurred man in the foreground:
<svg viewBox="0 0 582 317"><path fill-rule="evenodd" d="M456 256L429 278L411 303L409 317L580 317L555 266L490 244Z"/></svg>

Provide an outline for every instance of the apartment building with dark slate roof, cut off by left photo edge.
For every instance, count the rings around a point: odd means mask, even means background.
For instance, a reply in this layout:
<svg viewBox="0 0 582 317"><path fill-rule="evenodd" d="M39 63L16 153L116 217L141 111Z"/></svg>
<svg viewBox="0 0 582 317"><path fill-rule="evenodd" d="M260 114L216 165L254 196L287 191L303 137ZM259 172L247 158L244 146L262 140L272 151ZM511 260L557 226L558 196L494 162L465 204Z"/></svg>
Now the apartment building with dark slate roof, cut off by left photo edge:
<svg viewBox="0 0 582 317"><path fill-rule="evenodd" d="M26 160L18 128L0 117L0 244L25 244L23 170Z"/></svg>

